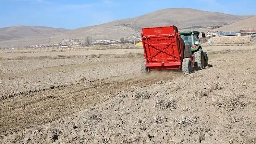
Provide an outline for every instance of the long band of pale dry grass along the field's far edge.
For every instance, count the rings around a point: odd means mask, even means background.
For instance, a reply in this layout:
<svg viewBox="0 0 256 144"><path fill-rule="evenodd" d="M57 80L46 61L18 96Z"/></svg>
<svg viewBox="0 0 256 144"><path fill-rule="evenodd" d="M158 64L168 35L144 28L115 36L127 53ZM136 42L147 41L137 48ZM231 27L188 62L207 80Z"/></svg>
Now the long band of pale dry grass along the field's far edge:
<svg viewBox="0 0 256 144"><path fill-rule="evenodd" d="M246 53L246 52L256 52L256 47L249 47L246 48L241 47L241 49L232 49L232 47L229 48L223 48L223 50L217 50L217 48L211 48L208 49L207 48L207 53L208 54L226 54L226 53ZM132 49L131 49L132 51ZM85 52L85 53L80 53L79 52L71 52L71 53L61 53L61 52L66 52L64 50L61 49L52 49L51 52L59 52L56 54L50 54L47 56L47 54L49 53L40 53L40 54L26 54L27 56L15 56L15 55L6 55L6 54L2 54L2 57L0 57L0 60L44 60L44 59L72 59L72 58L142 58L144 56L143 51L133 51L133 52L129 52L128 50L125 51L120 51L120 52L111 52L110 54L106 53L105 51L93 51L93 52ZM83 52L83 51L81 51ZM8 53L8 52L7 52ZM9 52L9 53L17 53L17 52ZM29 51L24 51L21 53L33 53L33 51L29 52ZM72 54L73 53L73 54ZM44 56L44 54L46 56ZM69 55L65 55L65 54L69 54ZM19 54L21 55L21 54ZM34 56L33 56L34 55ZM15 57L13 57L15 56Z"/></svg>

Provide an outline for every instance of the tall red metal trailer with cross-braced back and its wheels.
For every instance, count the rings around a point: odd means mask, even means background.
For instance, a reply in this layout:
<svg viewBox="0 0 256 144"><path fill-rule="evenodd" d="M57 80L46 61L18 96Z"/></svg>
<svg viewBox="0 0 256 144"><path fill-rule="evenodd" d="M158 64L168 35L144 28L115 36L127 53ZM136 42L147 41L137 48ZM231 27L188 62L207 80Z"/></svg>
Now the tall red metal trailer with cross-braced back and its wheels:
<svg viewBox="0 0 256 144"><path fill-rule="evenodd" d="M154 70L183 71L190 74L195 65L191 47L185 45L176 26L144 27L141 33L144 62L141 73Z"/></svg>

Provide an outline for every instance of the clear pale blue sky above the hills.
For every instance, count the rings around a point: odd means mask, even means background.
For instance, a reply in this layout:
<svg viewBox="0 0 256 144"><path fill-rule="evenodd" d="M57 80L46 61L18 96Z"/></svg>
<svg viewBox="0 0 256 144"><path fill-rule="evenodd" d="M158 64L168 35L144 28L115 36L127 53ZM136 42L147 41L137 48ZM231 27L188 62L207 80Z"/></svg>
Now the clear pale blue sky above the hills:
<svg viewBox="0 0 256 144"><path fill-rule="evenodd" d="M255 5L256 0L0 0L0 27L77 29L165 8L256 15Z"/></svg>

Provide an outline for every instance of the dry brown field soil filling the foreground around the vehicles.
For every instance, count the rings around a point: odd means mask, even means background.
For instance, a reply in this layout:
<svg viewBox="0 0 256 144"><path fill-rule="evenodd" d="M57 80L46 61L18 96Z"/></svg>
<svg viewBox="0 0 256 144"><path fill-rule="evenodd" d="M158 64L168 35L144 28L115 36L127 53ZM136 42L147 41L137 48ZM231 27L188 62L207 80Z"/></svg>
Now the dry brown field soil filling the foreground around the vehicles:
<svg viewBox="0 0 256 144"><path fill-rule="evenodd" d="M142 58L17 61L0 74L0 143L256 143L254 55L210 53L188 76L141 77Z"/></svg>

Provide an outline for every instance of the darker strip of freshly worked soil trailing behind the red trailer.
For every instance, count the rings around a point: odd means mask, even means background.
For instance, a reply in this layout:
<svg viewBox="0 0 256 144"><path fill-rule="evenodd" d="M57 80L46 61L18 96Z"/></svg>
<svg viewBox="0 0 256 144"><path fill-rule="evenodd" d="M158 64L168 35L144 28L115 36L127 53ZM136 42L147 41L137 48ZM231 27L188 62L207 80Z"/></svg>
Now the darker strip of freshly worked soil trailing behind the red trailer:
<svg viewBox="0 0 256 144"><path fill-rule="evenodd" d="M6 135L54 121L103 102L131 86L142 87L170 80L181 73L156 73L147 77L105 79L40 91L0 104L0 134ZM131 76L131 75L130 75Z"/></svg>

